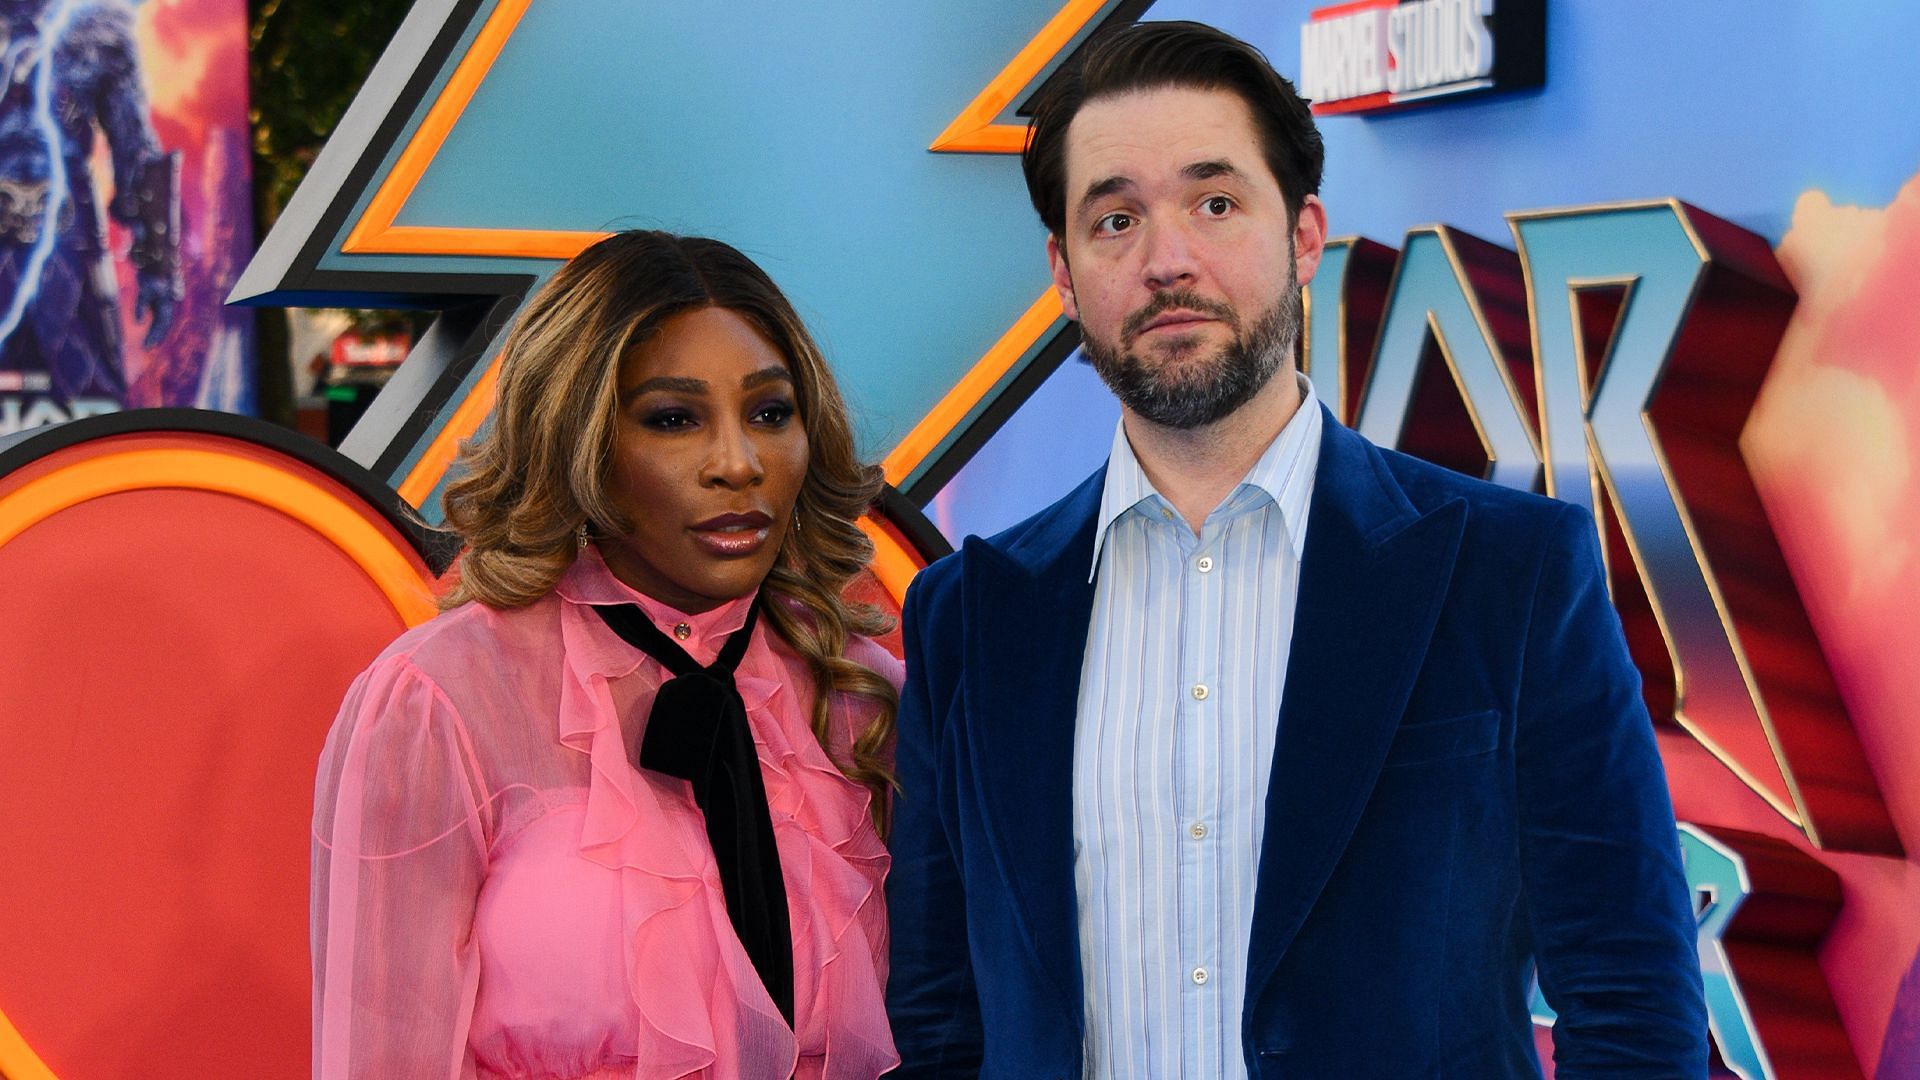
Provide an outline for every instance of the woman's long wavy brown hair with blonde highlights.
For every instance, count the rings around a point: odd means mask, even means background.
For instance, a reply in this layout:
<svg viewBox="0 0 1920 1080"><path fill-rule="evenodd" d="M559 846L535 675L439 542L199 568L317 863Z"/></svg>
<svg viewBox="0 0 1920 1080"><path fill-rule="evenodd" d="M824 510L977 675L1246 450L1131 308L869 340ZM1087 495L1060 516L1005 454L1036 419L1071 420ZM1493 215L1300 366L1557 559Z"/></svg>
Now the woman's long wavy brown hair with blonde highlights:
<svg viewBox="0 0 1920 1080"><path fill-rule="evenodd" d="M520 311L507 336L493 417L461 448L447 486L447 525L461 534L461 575L442 600L524 607L561 580L578 552L576 530L632 532L607 496L618 423L620 357L666 319L724 307L780 350L793 373L806 427L806 480L795 527L762 586L762 615L814 676L814 738L835 757L828 711L835 694L868 698L877 711L858 732L851 761L835 765L872 792L885 834L893 774L885 763L899 694L866 665L847 659L847 636L879 634L889 621L849 605L841 590L874 557L854 525L879 496L877 467L854 454L847 404L793 306L747 256L720 240L670 233L616 233L559 269Z"/></svg>

